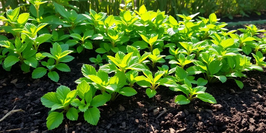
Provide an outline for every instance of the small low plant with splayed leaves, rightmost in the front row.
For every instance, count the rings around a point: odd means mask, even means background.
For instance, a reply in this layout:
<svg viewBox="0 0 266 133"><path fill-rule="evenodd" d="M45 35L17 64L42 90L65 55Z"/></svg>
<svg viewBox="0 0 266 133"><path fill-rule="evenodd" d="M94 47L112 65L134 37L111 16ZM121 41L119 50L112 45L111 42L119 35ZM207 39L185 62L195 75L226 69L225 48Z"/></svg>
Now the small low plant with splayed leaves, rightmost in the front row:
<svg viewBox="0 0 266 133"><path fill-rule="evenodd" d="M206 87L197 86L193 87L188 79L184 79L184 85L177 85L172 89L174 91L181 91L186 95L177 95L174 102L177 104L188 104L195 98L199 98L204 102L217 103L215 98L209 93L205 93Z"/></svg>

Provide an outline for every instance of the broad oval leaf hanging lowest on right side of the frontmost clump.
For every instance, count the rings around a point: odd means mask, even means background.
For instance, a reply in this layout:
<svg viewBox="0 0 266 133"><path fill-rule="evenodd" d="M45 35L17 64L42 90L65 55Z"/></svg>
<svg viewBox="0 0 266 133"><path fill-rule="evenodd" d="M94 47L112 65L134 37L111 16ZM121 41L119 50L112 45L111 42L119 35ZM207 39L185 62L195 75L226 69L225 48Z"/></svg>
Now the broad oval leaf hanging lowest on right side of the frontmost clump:
<svg viewBox="0 0 266 133"><path fill-rule="evenodd" d="M97 109L96 107L88 109L86 112L84 112L84 119L92 125L97 125L100 119L99 109Z"/></svg>

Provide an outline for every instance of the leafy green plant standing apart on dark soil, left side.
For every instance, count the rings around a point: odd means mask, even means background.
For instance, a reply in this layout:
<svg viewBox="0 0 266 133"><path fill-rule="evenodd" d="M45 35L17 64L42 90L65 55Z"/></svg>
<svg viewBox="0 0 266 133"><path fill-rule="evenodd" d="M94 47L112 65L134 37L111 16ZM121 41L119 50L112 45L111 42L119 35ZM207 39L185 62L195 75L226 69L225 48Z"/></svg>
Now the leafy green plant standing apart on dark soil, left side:
<svg viewBox="0 0 266 133"><path fill-rule="evenodd" d="M72 61L74 57L68 55L70 54L71 50L68 50L68 45L67 44L62 44L59 45L58 43L53 44L53 48L50 48L51 54L50 53L43 53L44 56L49 57L48 61L42 61L41 64L44 67L38 67L32 72L32 78L41 78L43 77L46 73L47 70L48 72L48 77L57 82L59 80L59 75L57 72L55 72L55 69L58 69L62 72L70 72L70 68L68 65L65 64L65 62ZM60 63L64 62L64 63Z"/></svg>

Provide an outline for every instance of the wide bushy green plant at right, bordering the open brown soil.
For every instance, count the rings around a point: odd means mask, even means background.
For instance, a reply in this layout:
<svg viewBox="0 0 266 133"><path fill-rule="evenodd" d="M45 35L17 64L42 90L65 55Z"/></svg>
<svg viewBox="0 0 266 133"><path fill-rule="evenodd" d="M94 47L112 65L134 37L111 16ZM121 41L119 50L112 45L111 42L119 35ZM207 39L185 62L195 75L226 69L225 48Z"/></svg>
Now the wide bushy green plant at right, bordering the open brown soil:
<svg viewBox="0 0 266 133"><path fill-rule="evenodd" d="M203 73L205 80L209 83L218 81L226 82L227 79L234 77L246 77L242 72L249 70L263 69L260 66L250 63L250 57L244 55L228 56L226 59L219 60L215 54L201 53L200 61L194 61L195 66L190 66L186 71L188 74ZM239 88L243 88L243 83L234 79Z"/></svg>

